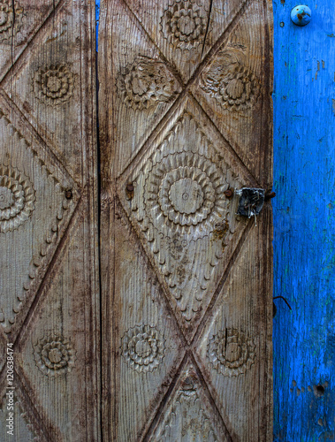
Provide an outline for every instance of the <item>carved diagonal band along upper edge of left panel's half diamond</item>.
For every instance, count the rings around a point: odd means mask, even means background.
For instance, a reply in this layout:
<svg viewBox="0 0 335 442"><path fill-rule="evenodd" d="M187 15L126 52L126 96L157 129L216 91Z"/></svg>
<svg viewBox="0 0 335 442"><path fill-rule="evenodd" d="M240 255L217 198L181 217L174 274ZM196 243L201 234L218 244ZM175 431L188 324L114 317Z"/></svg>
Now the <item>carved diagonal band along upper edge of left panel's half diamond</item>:
<svg viewBox="0 0 335 442"><path fill-rule="evenodd" d="M61 183L62 180L65 180L66 183L65 187L74 187L75 183L70 173L66 170L65 166L59 161L58 157L53 152L53 150L49 148L48 143L44 141L40 133L38 133L34 129L34 126L30 124L30 122L27 120L25 115L21 112L21 110L19 110L18 106L4 92L4 89L0 89L0 97L3 99L3 102L0 104L0 118L5 118L6 121L8 121L8 124L10 124L12 128L15 130L15 132L18 133L19 138L23 138L26 141L29 149L31 149L34 155L38 157L42 165L45 165L47 167L49 173L52 175L52 178L57 180L58 183ZM13 110L16 113L19 122L19 124L15 122L15 126L14 123L12 123L9 118L9 115L12 113ZM22 130L23 128L24 130L26 130L37 141L36 144L38 145L39 149L35 149L32 143L30 141L27 141L27 136L25 136L22 133L23 131L21 132L17 128L17 126L23 126L20 127L20 129ZM41 158L42 154L44 154L43 156L47 157L46 158L47 161L44 161L44 158L43 159ZM49 170L47 162L55 164L54 171ZM63 186L63 188L65 187Z"/></svg>

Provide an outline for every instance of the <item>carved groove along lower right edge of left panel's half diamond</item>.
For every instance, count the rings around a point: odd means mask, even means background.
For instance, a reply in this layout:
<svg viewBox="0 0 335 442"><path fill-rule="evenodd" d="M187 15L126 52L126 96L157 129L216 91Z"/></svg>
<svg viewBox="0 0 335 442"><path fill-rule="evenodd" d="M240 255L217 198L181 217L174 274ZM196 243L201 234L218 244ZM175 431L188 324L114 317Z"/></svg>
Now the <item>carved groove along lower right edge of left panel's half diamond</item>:
<svg viewBox="0 0 335 442"><path fill-rule="evenodd" d="M58 266L60 265L60 262L58 263L58 256L66 248L66 240L68 239L72 225L75 224L77 217L79 217L80 215L79 212L82 204L83 198L80 195L78 202L73 208L72 215L68 220L67 225L64 227L64 232L62 232L61 236L58 234L56 235L58 243L54 248L53 255L49 257L49 265L47 266L44 275L38 281L38 286L35 288L34 292L30 295L31 298L27 299L27 313L24 316L23 314L21 314L18 317L17 326L19 327L19 331L17 331L16 336L14 336L13 332L8 333L8 339L14 343L15 348L22 346L22 344L24 343L23 336L24 334L27 334L27 331L29 331L29 327L27 326L27 324L29 324L30 318L33 316L34 311L37 308L36 306L38 306L38 304L40 303L39 300L42 296L42 292L44 291L45 286L47 285L50 275L54 275L55 271L57 271ZM30 305L28 303L30 303Z"/></svg>

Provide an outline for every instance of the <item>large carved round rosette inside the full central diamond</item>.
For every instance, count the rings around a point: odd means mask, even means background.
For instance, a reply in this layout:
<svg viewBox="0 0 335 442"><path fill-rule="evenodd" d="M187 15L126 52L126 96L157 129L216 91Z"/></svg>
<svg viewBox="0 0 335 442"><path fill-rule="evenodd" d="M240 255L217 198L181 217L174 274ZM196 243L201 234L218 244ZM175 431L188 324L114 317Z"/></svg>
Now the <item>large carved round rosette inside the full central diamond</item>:
<svg viewBox="0 0 335 442"><path fill-rule="evenodd" d="M223 216L222 172L208 158L178 153L154 164L145 184L148 217L157 227L161 215L171 226L191 227Z"/></svg>

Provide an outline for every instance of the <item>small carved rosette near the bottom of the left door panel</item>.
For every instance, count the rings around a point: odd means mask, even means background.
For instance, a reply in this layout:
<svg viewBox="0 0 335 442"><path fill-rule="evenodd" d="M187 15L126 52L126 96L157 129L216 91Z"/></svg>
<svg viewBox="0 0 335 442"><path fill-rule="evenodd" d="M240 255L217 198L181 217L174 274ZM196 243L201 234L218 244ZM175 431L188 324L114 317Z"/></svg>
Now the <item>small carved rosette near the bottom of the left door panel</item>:
<svg viewBox="0 0 335 442"><path fill-rule="evenodd" d="M74 354L69 342L59 337L45 338L34 346L34 359L44 375L56 377L72 370Z"/></svg>

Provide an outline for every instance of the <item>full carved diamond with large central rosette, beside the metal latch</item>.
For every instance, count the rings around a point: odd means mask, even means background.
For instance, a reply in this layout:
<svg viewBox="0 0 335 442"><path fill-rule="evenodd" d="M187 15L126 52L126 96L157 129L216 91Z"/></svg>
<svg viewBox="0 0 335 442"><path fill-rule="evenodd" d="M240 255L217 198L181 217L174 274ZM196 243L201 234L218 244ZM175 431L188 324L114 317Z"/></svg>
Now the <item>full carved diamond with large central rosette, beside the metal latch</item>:
<svg viewBox="0 0 335 442"><path fill-rule="evenodd" d="M209 304L227 244L244 226L235 220L235 202L225 196L240 181L213 142L184 110L145 164L134 169L133 198L120 194L158 274L164 275L187 336L194 334Z"/></svg>

